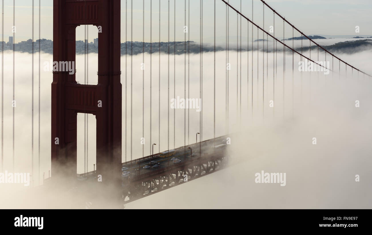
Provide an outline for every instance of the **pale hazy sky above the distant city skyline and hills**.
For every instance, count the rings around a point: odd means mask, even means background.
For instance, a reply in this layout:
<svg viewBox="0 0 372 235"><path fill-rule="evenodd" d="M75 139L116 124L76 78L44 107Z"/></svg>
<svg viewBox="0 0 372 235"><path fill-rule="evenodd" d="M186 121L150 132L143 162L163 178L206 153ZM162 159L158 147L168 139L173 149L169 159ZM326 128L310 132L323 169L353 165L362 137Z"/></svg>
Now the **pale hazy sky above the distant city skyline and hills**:
<svg viewBox="0 0 372 235"><path fill-rule="evenodd" d="M127 40L131 39L131 1L127 1L128 9L128 29ZM176 41L183 41L185 34L183 26L185 25L185 1L176 0ZM121 41L125 41L125 0L121 0ZM133 1L133 41L142 41L142 5L143 1ZM150 0L144 0L145 8L145 41L150 41ZM168 41L168 1L160 0L160 35L161 41ZM186 25L188 25L188 3L186 0ZM230 0L230 3L237 9L240 9L240 0ZM372 2L369 0L268 0L266 1L282 16L286 17L289 22L293 23L298 29L304 33L323 34L323 35L358 35L355 33L355 26L360 27L359 35L372 35L372 18L370 16L372 10ZM174 0L170 0L170 41L174 41ZM213 0L203 0L203 41L213 41ZM15 9L15 25L16 42L25 41L32 38L32 1L17 0ZM34 40L38 39L38 14L39 1L34 1ZM263 4L259 0L253 0L254 14L253 21L258 25L263 25ZM242 1L242 12L249 19L252 19L252 1ZM41 0L41 38L52 39L52 1ZM154 42L159 40L159 0L152 1L152 18L153 18L153 38ZM217 24L217 42L225 41L225 4L221 0L216 0L216 24ZM199 26L200 26L200 0L190 0L190 25L189 33L190 40L199 42ZM240 18L238 19L240 22ZM236 13L230 10L230 36L236 35ZM279 17L275 19L276 36L283 36L283 22ZM4 0L4 41L8 41L8 37L12 35L13 25L13 1ZM265 24L264 28L268 29L273 25L273 13L265 7ZM250 25L251 26L251 25ZM90 26L89 41L97 38L97 30ZM247 23L242 20L242 35L243 38L247 34ZM240 28L239 28L240 30ZM251 27L250 27L251 30ZM256 30L257 31L257 30ZM256 37L255 31L255 37ZM289 37L292 34L290 26L285 28L285 36ZM262 36L262 33L261 35ZM298 36L298 35L297 35ZM187 39L188 35L186 35ZM251 36L250 36L251 37ZM77 40L84 39L84 28L77 29Z"/></svg>

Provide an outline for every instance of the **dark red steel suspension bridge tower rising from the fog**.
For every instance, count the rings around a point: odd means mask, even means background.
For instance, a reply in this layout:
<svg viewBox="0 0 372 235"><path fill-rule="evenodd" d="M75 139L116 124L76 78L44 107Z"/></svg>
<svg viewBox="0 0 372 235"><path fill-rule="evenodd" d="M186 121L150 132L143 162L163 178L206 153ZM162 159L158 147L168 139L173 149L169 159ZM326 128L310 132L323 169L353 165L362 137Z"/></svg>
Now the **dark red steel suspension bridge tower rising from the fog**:
<svg viewBox="0 0 372 235"><path fill-rule="evenodd" d="M101 184L116 187L121 185L120 0L54 0L53 61L76 64L79 25L100 29L98 84L79 84L69 71L53 72L52 181L76 181L77 113L90 113L96 117L97 175Z"/></svg>

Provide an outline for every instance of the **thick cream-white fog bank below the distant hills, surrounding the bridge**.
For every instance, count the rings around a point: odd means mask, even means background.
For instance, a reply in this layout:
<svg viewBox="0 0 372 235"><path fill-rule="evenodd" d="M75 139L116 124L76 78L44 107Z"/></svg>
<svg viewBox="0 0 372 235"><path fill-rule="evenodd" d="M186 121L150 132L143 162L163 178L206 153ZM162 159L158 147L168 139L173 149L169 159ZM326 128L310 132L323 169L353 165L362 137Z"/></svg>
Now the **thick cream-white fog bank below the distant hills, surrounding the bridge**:
<svg viewBox="0 0 372 235"><path fill-rule="evenodd" d="M306 53L306 52L305 52ZM372 73L369 66L371 51L352 55L340 55L345 61L366 73ZM298 71L300 58L294 55L294 75L292 86L292 54L285 57L285 83L283 103L283 54L278 53L273 64L273 54L247 55L230 52L231 70L229 78L229 121L226 119L226 58L225 52L216 53L216 102L214 106L214 64L213 53L203 54L203 140L213 137L213 112L216 110L216 136L236 133L232 136L230 156L233 159L229 168L217 173L190 181L181 186L156 193L144 199L131 202L126 208L371 208L371 109L372 101L369 88L370 78L362 76L334 61L337 73L324 75L316 72L301 73ZM247 58L248 56L248 58ZM263 57L264 56L264 57ZM268 56L268 57L267 57ZM49 61L51 55L42 54L43 61ZM190 74L187 74L188 61L186 55L186 97L199 98L199 54L190 55ZM251 61L254 59L252 66ZM27 53L16 54L16 100L15 111L15 169L12 168L12 54L4 54L4 170L14 172L31 172L31 55ZM131 90L131 60L127 57L127 81L125 86L125 57L121 57L123 74L121 76L123 88L123 148L122 161L142 157L142 55L133 57L132 89ZM151 144L157 143L154 152L174 148L173 146L173 109L169 117L169 148L168 148L168 107L173 98L173 55L170 56L168 99L168 73L167 55L160 57L160 139L158 97L159 97L159 61L153 55L152 61L152 135L150 142L150 56L145 54L144 70L144 155L151 152ZM247 61L248 59L248 61ZM331 58L327 57L329 61ZM320 60L325 60L324 55ZM9 64L7 64L9 61ZM264 61L264 72L262 61ZM266 64L268 62L268 64ZM84 56L77 56L77 80L84 83ZM248 67L247 67L248 64ZM241 76L240 76L241 67ZM252 112L252 68L253 68L253 116ZM268 71L266 70L268 68ZM34 76L34 183L38 181L38 67L35 65ZM89 55L89 82L97 81L97 55ZM238 73L237 73L238 72ZM176 97L184 97L185 93L185 57L176 56ZM275 75L275 97L273 96L273 75ZM264 78L263 78L264 76ZM190 85L188 85L190 77ZM258 81L257 81L258 77ZM237 95L237 89L241 94ZM264 87L262 81L264 80ZM238 87L237 87L238 81ZM41 68L41 169L40 178L45 172L48 176L50 170L50 96L52 73L44 72ZM190 88L189 88L190 87ZM293 87L293 96L292 96ZM188 89L189 88L189 89ZM247 89L248 88L248 89ZM128 92L125 94L125 90ZM190 95L188 95L190 92ZM262 100L264 93L264 101ZM241 95L241 102L240 102ZM127 135L125 151L125 96L127 99ZM130 133L130 108L132 96L132 151ZM292 99L293 97L293 99ZM270 107L273 100L274 107ZM356 107L356 100L360 106ZM238 102L237 102L238 101ZM240 109L241 107L241 109ZM177 109L175 147L195 142L195 133L200 132L199 115L195 109L190 109L188 121L186 110L186 131L184 129L184 110ZM241 118L240 118L241 112ZM253 117L253 118L252 118ZM264 117L264 118L263 118ZM93 170L95 163L95 129L94 117L89 119L89 168ZM188 128L188 123L189 128ZM78 168L77 173L84 171L83 160L83 115L78 116ZM313 138L317 144L313 144ZM126 152L126 156L125 156ZM132 152L132 156L131 156ZM235 164L234 164L235 162ZM279 184L257 184L254 182L255 173L261 171L271 173L286 173L286 186ZM360 181L355 181L355 175ZM25 187L0 185L1 206L9 208L25 208L35 205L43 200L43 196L32 196L31 202L23 203L22 198L29 191ZM4 189L4 190L3 190ZM23 195L18 196L17 195ZM53 195L53 194L51 194ZM68 194L67 194L68 196ZM70 195L73 198L73 195ZM53 198L54 196L50 196ZM21 199L20 199L21 198ZM57 196L55 196L57 199ZM72 200L72 199L71 199ZM51 203L46 207L55 208Z"/></svg>

